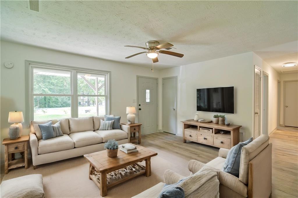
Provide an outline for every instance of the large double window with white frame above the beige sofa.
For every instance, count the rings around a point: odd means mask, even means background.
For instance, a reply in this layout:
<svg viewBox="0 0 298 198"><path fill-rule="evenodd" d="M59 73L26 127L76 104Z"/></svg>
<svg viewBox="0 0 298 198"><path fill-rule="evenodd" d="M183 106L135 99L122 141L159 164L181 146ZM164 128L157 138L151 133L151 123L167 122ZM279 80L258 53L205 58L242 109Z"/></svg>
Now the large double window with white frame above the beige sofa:
<svg viewBox="0 0 298 198"><path fill-rule="evenodd" d="M32 120L109 114L109 72L36 64L29 70Z"/></svg>

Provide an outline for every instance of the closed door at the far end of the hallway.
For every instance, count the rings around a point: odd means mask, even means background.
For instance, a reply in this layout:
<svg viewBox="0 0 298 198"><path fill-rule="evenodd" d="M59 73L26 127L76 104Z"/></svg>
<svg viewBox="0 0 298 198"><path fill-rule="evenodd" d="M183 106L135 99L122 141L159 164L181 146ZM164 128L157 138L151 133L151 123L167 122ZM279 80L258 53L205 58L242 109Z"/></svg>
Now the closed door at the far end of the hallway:
<svg viewBox="0 0 298 198"><path fill-rule="evenodd" d="M298 127L298 81L285 82L285 126Z"/></svg>

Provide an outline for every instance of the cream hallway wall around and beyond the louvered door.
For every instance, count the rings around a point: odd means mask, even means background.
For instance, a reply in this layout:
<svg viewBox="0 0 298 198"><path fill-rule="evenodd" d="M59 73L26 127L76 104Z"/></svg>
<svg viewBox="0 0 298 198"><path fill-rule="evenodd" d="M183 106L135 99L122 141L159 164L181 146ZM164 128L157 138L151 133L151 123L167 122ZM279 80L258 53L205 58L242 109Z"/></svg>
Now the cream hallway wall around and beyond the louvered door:
<svg viewBox="0 0 298 198"><path fill-rule="evenodd" d="M268 134L270 135L278 126L278 80L280 80L280 73L273 69L270 65L263 61L257 54L253 53L254 65L268 73ZM263 79L262 79L263 80ZM262 94L261 94L262 95ZM261 104L262 105L262 104ZM261 106L261 109L263 106ZM262 112L262 111L261 111ZM263 114L261 113L261 126ZM261 133L262 127L261 127Z"/></svg>

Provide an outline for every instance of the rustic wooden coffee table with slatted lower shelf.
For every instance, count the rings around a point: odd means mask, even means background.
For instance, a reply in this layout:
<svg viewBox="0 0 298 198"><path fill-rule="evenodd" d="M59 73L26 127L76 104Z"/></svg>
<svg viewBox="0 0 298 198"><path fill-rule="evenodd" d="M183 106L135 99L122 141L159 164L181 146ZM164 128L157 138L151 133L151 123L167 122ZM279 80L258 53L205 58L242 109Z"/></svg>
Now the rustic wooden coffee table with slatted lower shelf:
<svg viewBox="0 0 298 198"><path fill-rule="evenodd" d="M140 145L135 145L138 152L124 153L118 150L116 158L107 156L106 150L96 153L84 155L89 161L89 179L93 180L102 197L107 195L108 188L129 180L138 175L145 174L146 177L151 175L151 157L157 155ZM145 160L145 165L142 166L138 162Z"/></svg>

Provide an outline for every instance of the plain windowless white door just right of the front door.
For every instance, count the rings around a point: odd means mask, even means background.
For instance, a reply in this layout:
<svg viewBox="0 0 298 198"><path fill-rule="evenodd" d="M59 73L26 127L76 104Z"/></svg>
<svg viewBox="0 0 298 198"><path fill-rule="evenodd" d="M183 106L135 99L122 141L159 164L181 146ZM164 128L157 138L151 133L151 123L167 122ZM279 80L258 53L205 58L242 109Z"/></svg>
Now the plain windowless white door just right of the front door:
<svg viewBox="0 0 298 198"><path fill-rule="evenodd" d="M177 78L162 79L162 131L176 134L177 131Z"/></svg>

